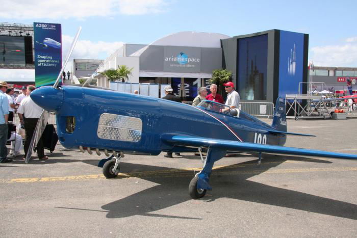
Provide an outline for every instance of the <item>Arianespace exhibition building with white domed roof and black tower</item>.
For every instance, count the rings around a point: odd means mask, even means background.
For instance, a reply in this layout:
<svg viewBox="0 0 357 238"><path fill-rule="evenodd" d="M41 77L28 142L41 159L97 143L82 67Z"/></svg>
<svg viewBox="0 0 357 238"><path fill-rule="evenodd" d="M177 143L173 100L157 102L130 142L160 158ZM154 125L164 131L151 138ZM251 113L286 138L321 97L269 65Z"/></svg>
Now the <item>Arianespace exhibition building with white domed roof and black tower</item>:
<svg viewBox="0 0 357 238"><path fill-rule="evenodd" d="M97 71L126 65L133 68L131 83L170 84L176 95L191 100L213 70L228 69L242 101L275 102L307 82L308 42L307 34L281 30L235 37L180 32L149 45L123 44ZM98 86L115 89L105 76L96 78Z"/></svg>

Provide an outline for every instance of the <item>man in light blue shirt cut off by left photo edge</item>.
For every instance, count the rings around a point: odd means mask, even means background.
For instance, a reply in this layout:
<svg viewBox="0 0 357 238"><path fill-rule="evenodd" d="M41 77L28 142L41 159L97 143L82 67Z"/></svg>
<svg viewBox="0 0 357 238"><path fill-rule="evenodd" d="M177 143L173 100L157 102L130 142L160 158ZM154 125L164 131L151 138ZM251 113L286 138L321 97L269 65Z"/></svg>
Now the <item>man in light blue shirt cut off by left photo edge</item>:
<svg viewBox="0 0 357 238"><path fill-rule="evenodd" d="M8 119L9 119L9 100L5 95L8 89L8 84L0 81L0 163L9 163L12 160L6 158L8 148L6 141L8 140Z"/></svg>

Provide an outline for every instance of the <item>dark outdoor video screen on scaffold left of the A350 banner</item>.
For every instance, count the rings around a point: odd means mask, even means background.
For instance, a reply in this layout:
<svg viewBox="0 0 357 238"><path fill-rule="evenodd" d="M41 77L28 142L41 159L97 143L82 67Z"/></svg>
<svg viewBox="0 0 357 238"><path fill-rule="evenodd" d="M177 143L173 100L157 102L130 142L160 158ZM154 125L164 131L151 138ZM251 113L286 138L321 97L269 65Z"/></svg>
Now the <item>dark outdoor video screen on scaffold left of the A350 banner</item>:
<svg viewBox="0 0 357 238"><path fill-rule="evenodd" d="M24 37L0 36L0 65L26 65Z"/></svg>

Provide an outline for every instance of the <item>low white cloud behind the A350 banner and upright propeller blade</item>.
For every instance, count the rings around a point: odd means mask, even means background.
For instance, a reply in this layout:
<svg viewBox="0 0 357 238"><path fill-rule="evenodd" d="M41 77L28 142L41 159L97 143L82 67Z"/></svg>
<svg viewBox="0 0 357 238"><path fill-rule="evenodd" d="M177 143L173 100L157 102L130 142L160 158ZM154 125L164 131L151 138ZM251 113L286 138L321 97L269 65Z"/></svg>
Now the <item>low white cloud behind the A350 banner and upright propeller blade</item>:
<svg viewBox="0 0 357 238"><path fill-rule="evenodd" d="M62 35L62 61L64 63L67 52L74 37ZM123 42L92 42L79 40L74 47L65 71L72 72L73 59L105 59L123 45ZM1 80L35 80L35 70L28 69L0 69Z"/></svg>

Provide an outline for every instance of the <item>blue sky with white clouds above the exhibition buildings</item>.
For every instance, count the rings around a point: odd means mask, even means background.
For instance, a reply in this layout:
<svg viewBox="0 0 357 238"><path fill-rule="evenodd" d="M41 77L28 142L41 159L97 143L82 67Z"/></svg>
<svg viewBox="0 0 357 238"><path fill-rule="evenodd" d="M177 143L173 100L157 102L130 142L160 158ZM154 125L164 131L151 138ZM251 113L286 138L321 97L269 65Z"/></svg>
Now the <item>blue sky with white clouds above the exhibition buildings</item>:
<svg viewBox="0 0 357 238"><path fill-rule="evenodd" d="M71 59L106 59L123 42L149 44L182 31L233 37L279 29L309 34L309 61L315 66L357 67L357 1L2 0L1 5L0 22L62 24L63 58L80 26ZM0 69L0 77L35 74Z"/></svg>

